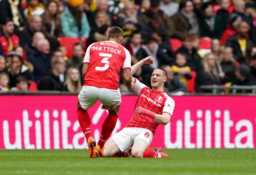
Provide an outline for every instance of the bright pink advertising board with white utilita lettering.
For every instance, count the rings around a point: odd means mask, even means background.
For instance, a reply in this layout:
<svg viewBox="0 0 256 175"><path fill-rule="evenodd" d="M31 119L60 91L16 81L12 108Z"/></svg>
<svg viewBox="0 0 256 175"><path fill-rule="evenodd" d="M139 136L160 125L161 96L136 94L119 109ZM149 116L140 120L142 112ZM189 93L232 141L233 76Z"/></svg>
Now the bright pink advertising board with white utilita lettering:
<svg viewBox="0 0 256 175"><path fill-rule="evenodd" d="M170 123L160 125L150 147L254 148L256 97L174 96ZM134 112L136 95L122 96L120 131ZM0 149L86 149L76 115L76 95L0 96ZM108 111L88 110L96 140Z"/></svg>

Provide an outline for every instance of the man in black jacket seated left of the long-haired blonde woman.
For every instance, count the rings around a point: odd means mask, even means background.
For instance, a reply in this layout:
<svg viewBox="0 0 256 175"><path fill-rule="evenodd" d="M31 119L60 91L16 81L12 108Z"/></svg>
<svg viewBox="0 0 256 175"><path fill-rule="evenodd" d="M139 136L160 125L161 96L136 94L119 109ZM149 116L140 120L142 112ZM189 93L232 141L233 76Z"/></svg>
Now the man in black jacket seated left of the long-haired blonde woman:
<svg viewBox="0 0 256 175"><path fill-rule="evenodd" d="M65 73L65 61L61 58L52 58L52 70L44 75L38 84L38 90L63 91Z"/></svg>

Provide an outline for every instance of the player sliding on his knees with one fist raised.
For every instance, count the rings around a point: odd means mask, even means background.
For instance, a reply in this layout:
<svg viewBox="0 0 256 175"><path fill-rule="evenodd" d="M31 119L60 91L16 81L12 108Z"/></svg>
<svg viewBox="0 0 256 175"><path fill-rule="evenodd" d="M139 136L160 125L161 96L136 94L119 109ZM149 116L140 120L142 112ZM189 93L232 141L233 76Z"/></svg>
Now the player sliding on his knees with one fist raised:
<svg viewBox="0 0 256 175"><path fill-rule="evenodd" d="M143 64L152 64L152 61L151 57L144 58L132 66L131 74L133 75ZM169 123L175 106L174 100L163 89L166 76L167 72L164 69L156 68L151 75L152 89L132 77L132 89L138 94L134 114L124 129L108 139L105 148L100 150L100 155L104 157L168 157L161 148L156 148L155 151L148 149L156 128L160 124ZM124 152L126 149L128 151Z"/></svg>

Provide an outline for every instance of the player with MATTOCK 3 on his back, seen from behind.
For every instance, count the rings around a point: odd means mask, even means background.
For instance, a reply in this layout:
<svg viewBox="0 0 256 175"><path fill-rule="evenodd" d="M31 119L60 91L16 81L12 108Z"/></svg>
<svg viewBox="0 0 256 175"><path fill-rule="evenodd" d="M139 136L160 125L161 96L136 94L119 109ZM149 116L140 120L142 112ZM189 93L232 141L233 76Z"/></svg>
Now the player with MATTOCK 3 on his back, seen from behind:
<svg viewBox="0 0 256 175"><path fill-rule="evenodd" d="M99 157L106 140L116 126L121 103L118 88L121 68L124 84L131 90L131 55L120 45L123 42L123 35L121 28L112 27L107 41L91 44L84 56L84 86L78 95L77 117L88 143L89 156L92 158ZM98 100L102 103L102 109L108 110L108 116L102 124L102 133L96 145L90 131L91 120L87 110Z"/></svg>

